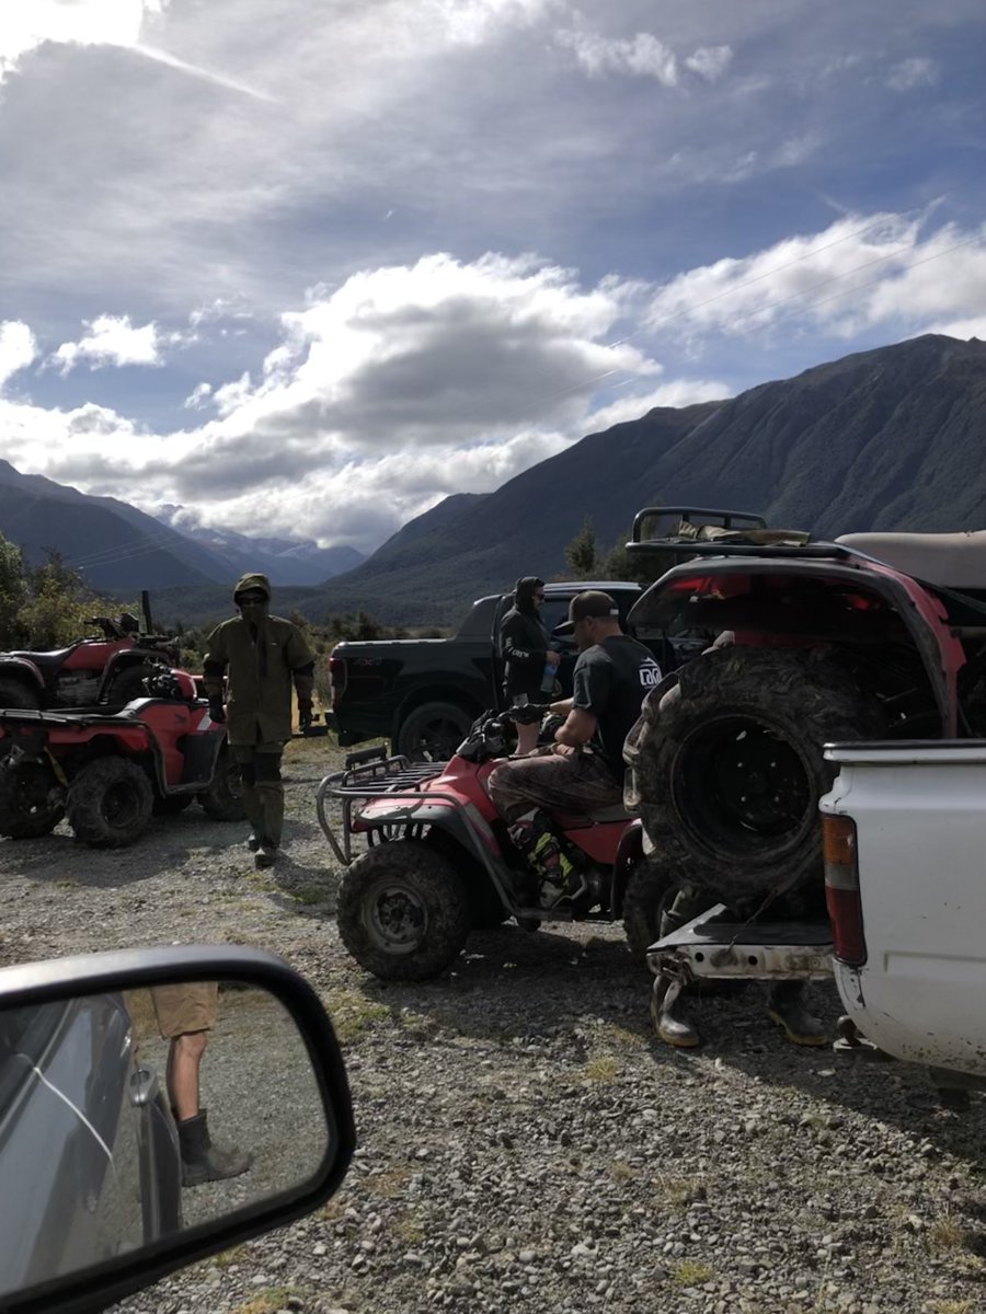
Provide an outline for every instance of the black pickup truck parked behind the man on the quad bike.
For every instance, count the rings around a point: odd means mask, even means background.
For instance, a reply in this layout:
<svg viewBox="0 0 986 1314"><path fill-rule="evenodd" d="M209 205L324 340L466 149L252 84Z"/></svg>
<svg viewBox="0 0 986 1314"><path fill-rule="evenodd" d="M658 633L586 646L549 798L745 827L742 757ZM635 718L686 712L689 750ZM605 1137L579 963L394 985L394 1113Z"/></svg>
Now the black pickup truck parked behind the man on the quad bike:
<svg viewBox="0 0 986 1314"><path fill-rule="evenodd" d="M542 619L548 631L568 615L569 599L582 589L603 589L621 616L640 597L638 583L577 579L544 586ZM492 594L472 604L452 639L393 639L337 644L329 658L331 719L339 744L389 738L398 753L450 757L480 712L501 707L504 661L500 620L513 594ZM638 635L663 669L676 665L663 635ZM678 640L676 640L676 645ZM572 692L576 649L572 639L555 639L563 653L559 681Z"/></svg>

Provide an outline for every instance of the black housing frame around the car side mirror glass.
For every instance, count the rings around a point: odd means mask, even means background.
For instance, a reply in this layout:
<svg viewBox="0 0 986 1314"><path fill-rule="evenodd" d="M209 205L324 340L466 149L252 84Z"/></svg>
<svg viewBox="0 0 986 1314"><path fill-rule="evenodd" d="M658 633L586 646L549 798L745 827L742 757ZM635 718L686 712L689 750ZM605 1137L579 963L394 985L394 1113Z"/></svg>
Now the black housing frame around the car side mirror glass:
<svg viewBox="0 0 986 1314"><path fill-rule="evenodd" d="M329 1133L321 1163L304 1181L221 1217L29 1288L14 1285L0 1296L5 1314L92 1314L175 1269L301 1218L325 1204L342 1183L355 1147L342 1053L316 992L273 954L233 946L174 946L8 967L0 970L0 1016L13 1009L67 1004L83 996L204 980L256 987L272 996L293 1021L312 1066ZM248 1081L248 1074L245 1080ZM16 1183L8 1183L7 1189L16 1192ZM3 1193L0 1184L0 1197Z"/></svg>

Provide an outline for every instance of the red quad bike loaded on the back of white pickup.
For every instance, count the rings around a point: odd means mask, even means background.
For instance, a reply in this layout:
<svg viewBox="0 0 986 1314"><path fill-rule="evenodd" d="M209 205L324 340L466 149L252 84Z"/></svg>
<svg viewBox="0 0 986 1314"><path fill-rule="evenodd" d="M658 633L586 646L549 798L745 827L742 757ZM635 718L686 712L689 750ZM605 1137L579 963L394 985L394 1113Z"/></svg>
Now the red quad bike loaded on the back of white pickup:
<svg viewBox="0 0 986 1314"><path fill-rule="evenodd" d="M649 695L627 738L627 800L665 887L644 909L663 937L648 963L816 975L858 909L858 891L823 882L824 748L986 737L986 533L815 541L747 512L647 507L627 548L665 572L630 612L638 632L727 640Z"/></svg>

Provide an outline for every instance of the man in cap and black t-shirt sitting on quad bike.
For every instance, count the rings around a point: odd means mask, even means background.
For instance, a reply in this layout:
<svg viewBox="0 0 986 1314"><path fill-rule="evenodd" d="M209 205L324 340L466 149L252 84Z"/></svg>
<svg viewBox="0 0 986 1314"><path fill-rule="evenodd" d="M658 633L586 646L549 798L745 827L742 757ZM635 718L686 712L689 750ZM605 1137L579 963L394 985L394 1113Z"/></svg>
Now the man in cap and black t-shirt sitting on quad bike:
<svg viewBox="0 0 986 1314"><path fill-rule="evenodd" d="M573 696L550 706L565 721L553 745L510 758L488 781L513 844L540 878L543 908L577 899L588 886L585 854L565 841L547 812L590 812L622 800L623 740L661 678L651 652L621 629L619 608L607 593L577 594L556 633L572 633L578 646Z"/></svg>

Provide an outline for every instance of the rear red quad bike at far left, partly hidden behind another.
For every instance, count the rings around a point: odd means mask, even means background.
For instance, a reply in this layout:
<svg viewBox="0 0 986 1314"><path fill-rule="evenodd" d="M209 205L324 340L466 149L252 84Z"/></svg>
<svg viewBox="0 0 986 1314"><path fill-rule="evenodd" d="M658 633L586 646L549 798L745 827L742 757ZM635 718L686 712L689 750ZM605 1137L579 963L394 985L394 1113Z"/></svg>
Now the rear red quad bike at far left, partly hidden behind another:
<svg viewBox="0 0 986 1314"><path fill-rule="evenodd" d="M0 708L124 707L143 696L143 681L170 670L179 658L170 635L155 635L143 593L146 632L137 616L92 616L100 639L80 639L55 652L0 653Z"/></svg>

